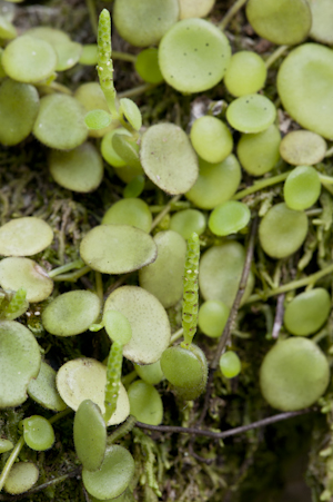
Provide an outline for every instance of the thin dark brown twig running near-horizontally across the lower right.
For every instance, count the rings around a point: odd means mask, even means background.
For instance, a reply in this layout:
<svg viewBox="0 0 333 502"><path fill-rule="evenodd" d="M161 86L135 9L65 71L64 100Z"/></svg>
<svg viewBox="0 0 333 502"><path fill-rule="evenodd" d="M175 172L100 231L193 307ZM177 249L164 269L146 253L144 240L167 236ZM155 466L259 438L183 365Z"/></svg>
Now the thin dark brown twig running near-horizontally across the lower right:
<svg viewBox="0 0 333 502"><path fill-rule="evenodd" d="M202 429L196 427L180 427L173 425L148 425L141 422L137 422L135 426L140 429L148 429L149 431L158 431L158 432L168 432L171 434L182 433L182 434L192 434L192 435L202 435L206 437L212 437L214 440L230 437L232 435L242 434L243 432L252 431L253 429L264 427L266 425L274 424L276 422L281 422L282 420L293 419L294 416L305 415L305 413L313 412L314 410L301 410L297 412L285 412L279 413L278 415L269 416L268 419L259 420L258 422L252 422L248 425L241 425L240 427L229 429L223 432L212 432L204 431Z"/></svg>

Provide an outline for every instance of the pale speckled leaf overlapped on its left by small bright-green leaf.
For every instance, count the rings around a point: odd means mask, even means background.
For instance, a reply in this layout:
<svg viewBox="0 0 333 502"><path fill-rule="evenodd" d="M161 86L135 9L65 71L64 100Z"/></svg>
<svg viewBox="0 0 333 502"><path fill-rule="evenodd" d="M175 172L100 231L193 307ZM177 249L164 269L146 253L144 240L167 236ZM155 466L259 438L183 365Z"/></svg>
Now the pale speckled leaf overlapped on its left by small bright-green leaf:
<svg viewBox="0 0 333 502"><path fill-rule="evenodd" d="M107 311L119 311L130 322L132 338L123 347L123 355L137 364L159 361L170 344L170 323L161 303L145 289L123 286L108 297Z"/></svg>

